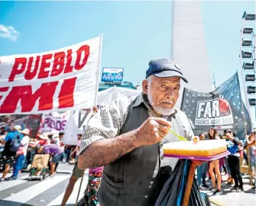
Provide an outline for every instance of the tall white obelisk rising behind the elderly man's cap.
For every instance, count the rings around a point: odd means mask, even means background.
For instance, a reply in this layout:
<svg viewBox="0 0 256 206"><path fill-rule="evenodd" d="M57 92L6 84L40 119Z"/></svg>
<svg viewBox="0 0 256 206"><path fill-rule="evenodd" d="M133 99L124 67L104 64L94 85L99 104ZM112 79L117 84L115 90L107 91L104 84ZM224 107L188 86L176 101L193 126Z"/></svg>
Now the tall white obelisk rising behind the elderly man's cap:
<svg viewBox="0 0 256 206"><path fill-rule="evenodd" d="M177 107L180 108L183 88L196 92L212 90L211 71L206 48L200 1L173 1L171 58L189 81L180 89Z"/></svg>

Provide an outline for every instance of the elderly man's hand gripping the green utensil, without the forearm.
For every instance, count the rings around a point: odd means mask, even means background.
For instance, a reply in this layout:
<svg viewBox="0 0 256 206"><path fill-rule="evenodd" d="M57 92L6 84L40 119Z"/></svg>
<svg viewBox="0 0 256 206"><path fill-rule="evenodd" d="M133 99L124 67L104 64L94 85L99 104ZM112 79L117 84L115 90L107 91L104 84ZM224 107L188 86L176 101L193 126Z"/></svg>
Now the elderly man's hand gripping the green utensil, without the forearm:
<svg viewBox="0 0 256 206"><path fill-rule="evenodd" d="M147 146L159 143L169 133L170 122L160 117L149 117L135 130L134 145Z"/></svg>

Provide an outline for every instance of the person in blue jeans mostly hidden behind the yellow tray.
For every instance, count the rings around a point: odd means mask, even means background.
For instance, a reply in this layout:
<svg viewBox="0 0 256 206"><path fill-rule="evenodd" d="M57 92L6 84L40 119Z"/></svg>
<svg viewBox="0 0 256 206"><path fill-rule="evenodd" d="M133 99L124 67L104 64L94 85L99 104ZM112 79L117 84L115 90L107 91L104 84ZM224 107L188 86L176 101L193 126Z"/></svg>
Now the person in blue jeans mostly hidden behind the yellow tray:
<svg viewBox="0 0 256 206"><path fill-rule="evenodd" d="M200 140L206 140L206 135L204 133L199 135ZM197 185L199 186L199 189L203 188L209 188L209 186L206 184L206 172L208 170L208 163L202 163L202 165L198 166L197 169ZM201 185L201 182L203 184Z"/></svg>

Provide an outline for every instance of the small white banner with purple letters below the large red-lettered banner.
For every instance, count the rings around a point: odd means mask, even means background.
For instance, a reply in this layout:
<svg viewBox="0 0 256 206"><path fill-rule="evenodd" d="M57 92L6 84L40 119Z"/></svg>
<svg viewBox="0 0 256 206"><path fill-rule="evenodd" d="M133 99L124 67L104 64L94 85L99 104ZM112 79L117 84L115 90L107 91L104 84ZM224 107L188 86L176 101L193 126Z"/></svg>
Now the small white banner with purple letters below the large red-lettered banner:
<svg viewBox="0 0 256 206"><path fill-rule="evenodd" d="M59 134L66 128L66 121L70 117L70 111L66 111L62 114L54 111L50 114L43 114L41 118L41 124L38 128L38 132L51 132L52 134Z"/></svg>

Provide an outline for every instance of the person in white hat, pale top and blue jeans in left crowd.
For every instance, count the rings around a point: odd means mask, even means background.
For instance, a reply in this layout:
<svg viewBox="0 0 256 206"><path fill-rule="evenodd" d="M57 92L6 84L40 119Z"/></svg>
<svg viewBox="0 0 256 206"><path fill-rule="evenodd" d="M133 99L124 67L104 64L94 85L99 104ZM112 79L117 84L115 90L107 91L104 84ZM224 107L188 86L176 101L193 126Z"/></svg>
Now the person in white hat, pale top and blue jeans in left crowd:
<svg viewBox="0 0 256 206"><path fill-rule="evenodd" d="M27 156L28 144L30 140L29 138L30 130L28 129L21 130L21 134L23 135L21 140L21 146L19 146L19 149L16 152L13 173L11 175L11 178L8 180L15 180L18 178L18 173L21 172L21 169L24 166L25 157Z"/></svg>

